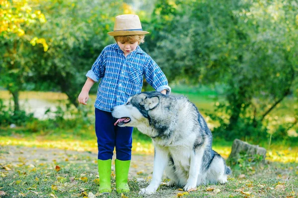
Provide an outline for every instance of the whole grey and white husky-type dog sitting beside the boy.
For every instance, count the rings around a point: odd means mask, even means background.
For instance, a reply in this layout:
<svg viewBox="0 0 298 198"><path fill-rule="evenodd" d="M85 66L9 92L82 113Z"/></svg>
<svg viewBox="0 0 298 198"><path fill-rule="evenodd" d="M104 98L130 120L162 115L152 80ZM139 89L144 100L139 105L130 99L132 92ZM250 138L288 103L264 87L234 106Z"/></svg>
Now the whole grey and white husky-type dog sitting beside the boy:
<svg viewBox="0 0 298 198"><path fill-rule="evenodd" d="M140 194L154 193L162 173L167 186L185 191L200 184L227 182L231 174L224 158L212 149L212 134L197 107L184 96L143 92L112 108L115 125L137 127L154 145L152 181Z"/></svg>

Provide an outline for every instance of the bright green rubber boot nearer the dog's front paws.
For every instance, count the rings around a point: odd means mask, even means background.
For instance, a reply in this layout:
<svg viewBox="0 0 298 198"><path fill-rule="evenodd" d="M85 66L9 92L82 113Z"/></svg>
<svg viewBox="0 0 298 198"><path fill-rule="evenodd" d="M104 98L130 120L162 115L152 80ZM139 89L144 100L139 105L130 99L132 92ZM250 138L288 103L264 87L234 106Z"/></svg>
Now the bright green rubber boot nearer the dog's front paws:
<svg viewBox="0 0 298 198"><path fill-rule="evenodd" d="M130 161L131 160L121 161L119 159L115 159L117 193L130 192L127 184Z"/></svg>

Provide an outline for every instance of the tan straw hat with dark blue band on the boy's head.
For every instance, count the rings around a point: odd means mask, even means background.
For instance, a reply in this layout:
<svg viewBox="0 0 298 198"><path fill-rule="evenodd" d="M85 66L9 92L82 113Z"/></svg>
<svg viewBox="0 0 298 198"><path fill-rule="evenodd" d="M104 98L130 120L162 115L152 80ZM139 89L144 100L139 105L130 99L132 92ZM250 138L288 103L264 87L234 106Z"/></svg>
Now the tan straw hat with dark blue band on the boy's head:
<svg viewBox="0 0 298 198"><path fill-rule="evenodd" d="M136 14L123 14L116 16L114 31L108 32L110 36L143 35L149 32L143 31L141 21Z"/></svg>

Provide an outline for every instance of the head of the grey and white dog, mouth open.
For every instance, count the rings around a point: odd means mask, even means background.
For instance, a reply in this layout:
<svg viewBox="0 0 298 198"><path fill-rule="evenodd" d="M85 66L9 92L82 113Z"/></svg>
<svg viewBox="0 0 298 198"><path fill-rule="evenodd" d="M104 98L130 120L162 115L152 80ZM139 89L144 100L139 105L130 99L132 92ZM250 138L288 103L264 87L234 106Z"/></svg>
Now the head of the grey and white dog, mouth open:
<svg viewBox="0 0 298 198"><path fill-rule="evenodd" d="M115 106L112 116L118 120L114 125L138 127L149 124L149 114L158 106L161 96L159 92L143 92L130 97L126 104Z"/></svg>

